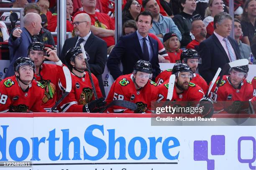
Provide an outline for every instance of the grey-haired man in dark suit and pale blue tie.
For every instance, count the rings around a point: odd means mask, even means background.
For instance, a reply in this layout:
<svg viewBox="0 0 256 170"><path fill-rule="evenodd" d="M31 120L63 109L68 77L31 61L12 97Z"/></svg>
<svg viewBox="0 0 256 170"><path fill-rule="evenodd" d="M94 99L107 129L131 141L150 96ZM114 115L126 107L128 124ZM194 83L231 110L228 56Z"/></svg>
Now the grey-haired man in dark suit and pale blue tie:
<svg viewBox="0 0 256 170"><path fill-rule="evenodd" d="M214 33L199 45L199 53L202 57L199 73L208 84L212 81L218 67L223 69L226 63L241 59L236 40L228 37L231 26L232 18L228 13L215 15Z"/></svg>

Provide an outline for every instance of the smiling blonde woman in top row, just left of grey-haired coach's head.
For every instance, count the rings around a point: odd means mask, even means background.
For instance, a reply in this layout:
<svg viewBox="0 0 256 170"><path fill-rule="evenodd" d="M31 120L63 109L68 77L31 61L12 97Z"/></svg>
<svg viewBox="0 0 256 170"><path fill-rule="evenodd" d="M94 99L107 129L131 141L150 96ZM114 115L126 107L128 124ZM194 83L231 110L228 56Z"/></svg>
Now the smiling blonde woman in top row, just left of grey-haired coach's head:
<svg viewBox="0 0 256 170"><path fill-rule="evenodd" d="M209 5L205 10L205 19L203 22L205 23L207 35L206 37L210 37L213 34L213 18L215 15L223 12L223 1L222 0L210 0Z"/></svg>

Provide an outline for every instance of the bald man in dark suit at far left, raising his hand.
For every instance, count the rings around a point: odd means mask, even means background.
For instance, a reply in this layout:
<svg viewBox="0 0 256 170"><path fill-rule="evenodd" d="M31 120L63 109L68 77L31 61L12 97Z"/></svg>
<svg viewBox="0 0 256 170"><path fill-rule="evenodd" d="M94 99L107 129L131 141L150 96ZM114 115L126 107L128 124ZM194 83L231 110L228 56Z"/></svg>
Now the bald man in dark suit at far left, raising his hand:
<svg viewBox="0 0 256 170"><path fill-rule="evenodd" d="M25 15L24 28L15 28L9 37L10 65L5 77L14 75L13 64L18 57L27 57L28 46L32 42L33 35L39 35L41 31L41 17L36 13L28 13ZM35 37L34 37L35 38Z"/></svg>

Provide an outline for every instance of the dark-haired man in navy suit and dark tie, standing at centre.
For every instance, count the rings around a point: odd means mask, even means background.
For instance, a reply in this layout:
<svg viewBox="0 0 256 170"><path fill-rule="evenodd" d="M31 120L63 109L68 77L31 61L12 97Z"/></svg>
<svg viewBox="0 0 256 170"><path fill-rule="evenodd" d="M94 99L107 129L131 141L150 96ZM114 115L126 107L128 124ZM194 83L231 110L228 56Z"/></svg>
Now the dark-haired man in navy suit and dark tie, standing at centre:
<svg viewBox="0 0 256 170"><path fill-rule="evenodd" d="M108 69L114 79L120 75L130 74L138 60L150 61L153 67L153 78L160 73L158 61L158 42L148 36L153 17L149 11L143 11L136 19L138 30L130 35L120 37L107 61ZM123 72L120 71L120 61Z"/></svg>

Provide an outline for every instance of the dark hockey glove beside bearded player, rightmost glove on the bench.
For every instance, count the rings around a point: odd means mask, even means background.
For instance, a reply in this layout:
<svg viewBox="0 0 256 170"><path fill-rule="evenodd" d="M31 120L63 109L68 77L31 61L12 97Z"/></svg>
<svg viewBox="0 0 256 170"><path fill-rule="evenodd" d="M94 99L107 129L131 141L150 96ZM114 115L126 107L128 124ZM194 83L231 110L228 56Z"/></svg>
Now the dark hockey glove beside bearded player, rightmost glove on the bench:
<svg viewBox="0 0 256 170"><path fill-rule="evenodd" d="M201 112L202 117L212 117L214 111L212 99L210 99L209 97L202 97L199 102L199 107L203 107Z"/></svg>

